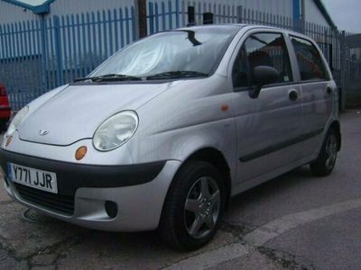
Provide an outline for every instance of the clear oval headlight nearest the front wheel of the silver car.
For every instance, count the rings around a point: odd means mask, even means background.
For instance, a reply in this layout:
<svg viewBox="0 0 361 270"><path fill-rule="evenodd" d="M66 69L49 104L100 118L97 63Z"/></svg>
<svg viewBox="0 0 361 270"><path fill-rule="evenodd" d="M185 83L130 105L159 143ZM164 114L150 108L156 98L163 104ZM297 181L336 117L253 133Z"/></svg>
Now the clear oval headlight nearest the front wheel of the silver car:
<svg viewBox="0 0 361 270"><path fill-rule="evenodd" d="M110 151L131 139L138 127L138 115L133 111L116 113L104 121L93 137L93 145L99 151Z"/></svg>

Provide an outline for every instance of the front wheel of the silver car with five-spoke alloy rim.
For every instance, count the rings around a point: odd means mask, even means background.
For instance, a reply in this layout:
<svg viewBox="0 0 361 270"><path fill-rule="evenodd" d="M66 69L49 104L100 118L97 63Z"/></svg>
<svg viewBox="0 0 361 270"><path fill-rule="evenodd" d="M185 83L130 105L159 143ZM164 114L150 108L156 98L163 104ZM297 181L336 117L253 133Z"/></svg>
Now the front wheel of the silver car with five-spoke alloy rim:
<svg viewBox="0 0 361 270"><path fill-rule="evenodd" d="M194 250L214 237L225 209L225 185L218 170L190 161L175 175L164 202L159 233L169 246Z"/></svg>

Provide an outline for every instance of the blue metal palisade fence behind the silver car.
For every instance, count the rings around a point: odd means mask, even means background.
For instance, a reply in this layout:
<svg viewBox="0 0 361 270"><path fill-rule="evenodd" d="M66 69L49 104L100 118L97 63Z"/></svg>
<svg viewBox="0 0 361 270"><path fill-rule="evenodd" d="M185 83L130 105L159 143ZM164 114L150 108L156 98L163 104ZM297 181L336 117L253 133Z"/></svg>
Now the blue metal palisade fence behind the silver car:
<svg viewBox="0 0 361 270"><path fill-rule="evenodd" d="M215 23L255 23L303 31L338 62L334 31L292 17L263 13L222 1L148 0L148 33L187 24L193 5L196 22L214 14ZM52 16L37 21L0 25L0 81L7 86L13 109L19 110L44 92L87 76L102 61L136 39L134 6L97 13ZM332 46L329 46L329 45Z"/></svg>

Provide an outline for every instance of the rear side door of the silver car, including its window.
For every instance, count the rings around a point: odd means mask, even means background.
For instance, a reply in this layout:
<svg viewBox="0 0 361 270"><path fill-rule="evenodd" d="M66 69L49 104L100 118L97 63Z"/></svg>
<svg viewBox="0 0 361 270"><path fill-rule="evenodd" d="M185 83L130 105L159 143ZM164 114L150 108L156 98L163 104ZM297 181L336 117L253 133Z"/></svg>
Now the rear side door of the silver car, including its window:
<svg viewBox="0 0 361 270"><path fill-rule="evenodd" d="M310 138L303 154L309 156L319 148L319 139L332 112L332 94L336 90L319 49L310 41L290 36L300 70L303 94L303 132ZM319 136L318 136L319 135Z"/></svg>

